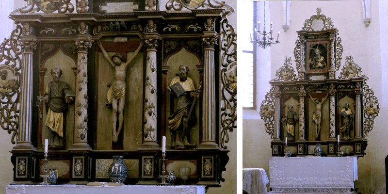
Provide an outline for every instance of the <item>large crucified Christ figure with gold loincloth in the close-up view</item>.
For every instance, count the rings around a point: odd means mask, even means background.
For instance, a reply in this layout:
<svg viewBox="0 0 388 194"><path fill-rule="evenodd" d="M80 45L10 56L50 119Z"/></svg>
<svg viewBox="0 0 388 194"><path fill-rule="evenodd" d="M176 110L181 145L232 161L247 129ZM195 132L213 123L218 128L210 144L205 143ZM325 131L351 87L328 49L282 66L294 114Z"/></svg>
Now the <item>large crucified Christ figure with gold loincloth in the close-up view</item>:
<svg viewBox="0 0 388 194"><path fill-rule="evenodd" d="M120 134L121 128L123 127L124 121L124 106L125 106L125 79L127 75L127 68L129 64L137 57L140 52L140 49L143 47L143 42L140 43L139 48L136 49L132 57L125 62L124 57L121 54L115 54L112 57L109 57L108 53L102 47L101 42L97 41L98 47L102 50L105 59L113 66L114 68L114 81L110 87L107 100L108 104L112 103L112 124L113 124L113 134L112 142L116 143L118 140L118 135ZM118 112L118 128L116 129L117 122L117 112Z"/></svg>

